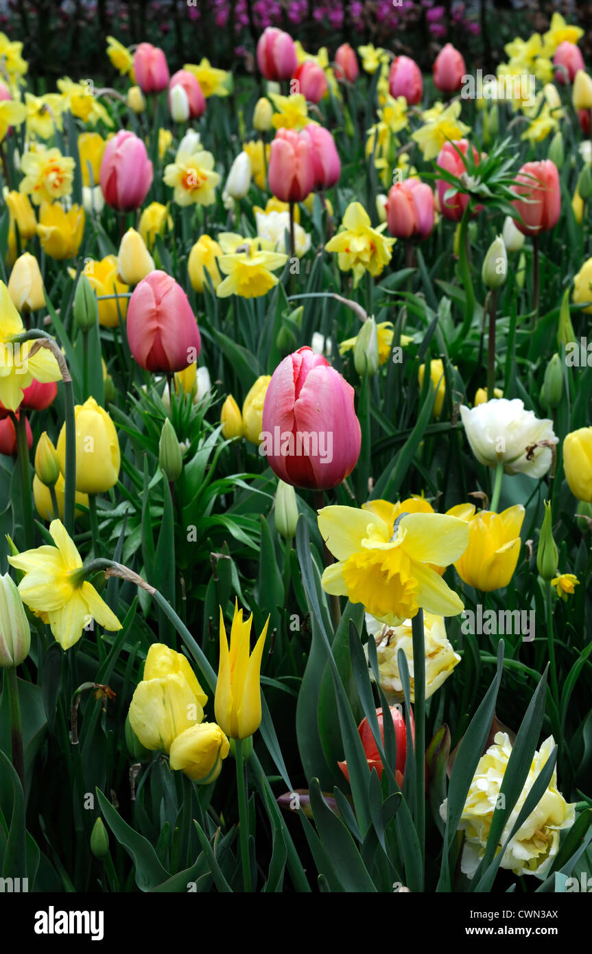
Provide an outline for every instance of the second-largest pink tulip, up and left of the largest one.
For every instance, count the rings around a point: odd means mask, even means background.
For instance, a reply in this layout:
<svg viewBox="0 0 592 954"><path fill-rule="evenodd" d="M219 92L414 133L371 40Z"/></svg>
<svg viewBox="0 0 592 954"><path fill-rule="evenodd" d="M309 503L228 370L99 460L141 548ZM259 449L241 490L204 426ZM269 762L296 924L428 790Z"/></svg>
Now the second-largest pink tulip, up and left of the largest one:
<svg viewBox="0 0 592 954"><path fill-rule="evenodd" d="M165 272L151 272L136 285L126 326L133 358L148 371L181 371L201 349L187 295Z"/></svg>

